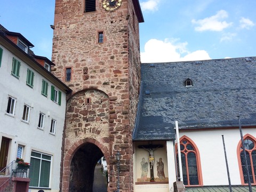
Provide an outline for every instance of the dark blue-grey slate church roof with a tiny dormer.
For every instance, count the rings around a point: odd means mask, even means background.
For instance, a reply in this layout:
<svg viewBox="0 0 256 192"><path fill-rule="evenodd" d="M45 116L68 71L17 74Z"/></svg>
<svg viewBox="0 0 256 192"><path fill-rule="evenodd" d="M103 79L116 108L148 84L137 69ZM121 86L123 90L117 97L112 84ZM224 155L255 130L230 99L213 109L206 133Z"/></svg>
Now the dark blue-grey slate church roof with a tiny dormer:
<svg viewBox="0 0 256 192"><path fill-rule="evenodd" d="M239 115L255 126L255 95L256 57L142 63L133 140L172 140L175 121L179 129L234 127Z"/></svg>

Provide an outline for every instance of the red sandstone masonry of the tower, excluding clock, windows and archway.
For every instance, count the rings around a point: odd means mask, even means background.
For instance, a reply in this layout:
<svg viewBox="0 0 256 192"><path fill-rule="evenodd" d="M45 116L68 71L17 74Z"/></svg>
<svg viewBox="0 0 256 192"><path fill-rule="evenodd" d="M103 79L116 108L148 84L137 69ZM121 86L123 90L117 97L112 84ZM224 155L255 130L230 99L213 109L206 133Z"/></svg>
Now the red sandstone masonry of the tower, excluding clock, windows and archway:
<svg viewBox="0 0 256 192"><path fill-rule="evenodd" d="M113 171L116 166L113 167L113 164L117 150L122 154L121 191L133 191L132 129L140 83L138 20L132 16L135 11L132 11L131 0L123 0L122 6L114 12L105 11L101 1L98 1L97 11L84 13L83 2L56 0L55 5L52 61L56 66L52 72L65 82L65 68L72 67L71 81L65 83L74 90L74 96L67 105L62 191L67 190L63 183L67 183L69 177L65 175L69 169L69 165L65 164L67 151L83 138L93 138L99 141L100 148L105 146L108 149L102 151L111 164L108 165L108 191L116 187L116 174ZM103 43L97 43L98 31L103 31ZM90 116L85 109L79 109L86 104L84 97L87 95L79 93L78 96L75 93L87 89L106 93L108 103L105 104L108 110L99 106L95 114ZM104 95L98 93L93 92L96 100ZM91 97L92 101L94 97ZM97 128L103 125L103 122L97 120L98 113L103 113L100 109L108 114L108 123L106 118L103 121L107 132L99 132ZM90 119L90 125L85 123L84 118L87 121Z"/></svg>

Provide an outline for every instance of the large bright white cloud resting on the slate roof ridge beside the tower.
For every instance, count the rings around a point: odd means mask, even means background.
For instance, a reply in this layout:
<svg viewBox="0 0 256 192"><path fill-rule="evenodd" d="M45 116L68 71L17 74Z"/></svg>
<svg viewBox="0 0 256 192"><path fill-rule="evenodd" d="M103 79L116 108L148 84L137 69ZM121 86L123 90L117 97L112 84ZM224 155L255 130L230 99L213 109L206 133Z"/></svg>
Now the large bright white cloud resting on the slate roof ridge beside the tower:
<svg viewBox="0 0 256 192"><path fill-rule="evenodd" d="M204 50L187 51L187 42L180 43L178 39L165 39L164 41L150 39L145 44L145 52L141 52L141 62L172 62L211 59ZM181 54L186 54L181 57Z"/></svg>

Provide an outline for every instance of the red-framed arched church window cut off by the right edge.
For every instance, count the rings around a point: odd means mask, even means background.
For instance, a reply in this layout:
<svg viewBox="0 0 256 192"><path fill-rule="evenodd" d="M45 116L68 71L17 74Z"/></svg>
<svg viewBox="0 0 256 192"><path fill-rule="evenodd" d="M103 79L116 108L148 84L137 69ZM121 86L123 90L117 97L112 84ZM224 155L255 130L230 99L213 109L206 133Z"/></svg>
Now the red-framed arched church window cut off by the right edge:
<svg viewBox="0 0 256 192"><path fill-rule="evenodd" d="M244 136L244 148L246 153L246 160L249 170L249 177L252 184L256 184L256 139L250 135L246 134ZM239 171L241 175L242 184L248 183L245 157L242 147L242 141L240 140L237 147L237 157L239 164Z"/></svg>

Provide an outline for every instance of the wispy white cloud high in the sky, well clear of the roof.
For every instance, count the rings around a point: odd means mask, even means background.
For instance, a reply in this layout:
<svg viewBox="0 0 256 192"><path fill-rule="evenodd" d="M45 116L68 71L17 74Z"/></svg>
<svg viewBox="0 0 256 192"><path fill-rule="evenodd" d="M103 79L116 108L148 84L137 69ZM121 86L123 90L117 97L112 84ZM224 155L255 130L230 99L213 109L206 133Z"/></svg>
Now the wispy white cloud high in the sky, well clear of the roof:
<svg viewBox="0 0 256 192"><path fill-rule="evenodd" d="M225 18L228 18L227 11L220 10L217 12L217 14L211 17L199 20L193 19L191 22L195 25L198 25L197 27L195 27L196 31L222 31L223 29L232 25L232 22L228 23L227 21L222 21Z"/></svg>

